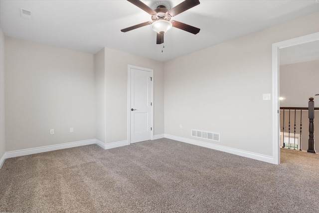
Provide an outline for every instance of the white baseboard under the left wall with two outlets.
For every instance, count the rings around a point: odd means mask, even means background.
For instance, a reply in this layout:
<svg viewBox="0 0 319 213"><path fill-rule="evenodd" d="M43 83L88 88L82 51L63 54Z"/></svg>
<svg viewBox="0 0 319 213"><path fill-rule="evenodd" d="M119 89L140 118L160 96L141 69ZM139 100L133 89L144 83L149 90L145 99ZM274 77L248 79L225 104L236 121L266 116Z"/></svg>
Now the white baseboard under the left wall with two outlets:
<svg viewBox="0 0 319 213"><path fill-rule="evenodd" d="M71 142L71 143L65 143L65 144L57 144L57 145L51 145L51 146L44 146L44 147L37 147L37 148L31 148L31 149L24 149L24 150L17 150L17 151L10 151L5 152L5 158L14 158L24 155L32 155L36 153L42 153L42 152L50 152L60 149L68 149L72 147L80 147L90 144L95 144L96 140L86 140L86 141L77 141L77 142Z"/></svg>

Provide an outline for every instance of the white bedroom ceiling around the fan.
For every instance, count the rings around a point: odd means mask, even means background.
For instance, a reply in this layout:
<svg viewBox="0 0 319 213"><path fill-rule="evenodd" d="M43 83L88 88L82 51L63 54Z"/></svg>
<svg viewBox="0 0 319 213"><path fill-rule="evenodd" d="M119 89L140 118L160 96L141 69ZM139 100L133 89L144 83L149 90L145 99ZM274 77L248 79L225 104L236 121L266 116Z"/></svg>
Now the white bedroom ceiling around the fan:
<svg viewBox="0 0 319 213"><path fill-rule="evenodd" d="M143 2L152 7L157 1ZM173 7L182 0L165 2ZM20 8L30 10L33 18L22 18ZM0 0L0 26L6 36L15 38L93 54L109 47L166 61L317 11L316 0L200 0L172 18L200 32L170 29L163 53L151 26L120 31L151 20L126 0Z"/></svg>

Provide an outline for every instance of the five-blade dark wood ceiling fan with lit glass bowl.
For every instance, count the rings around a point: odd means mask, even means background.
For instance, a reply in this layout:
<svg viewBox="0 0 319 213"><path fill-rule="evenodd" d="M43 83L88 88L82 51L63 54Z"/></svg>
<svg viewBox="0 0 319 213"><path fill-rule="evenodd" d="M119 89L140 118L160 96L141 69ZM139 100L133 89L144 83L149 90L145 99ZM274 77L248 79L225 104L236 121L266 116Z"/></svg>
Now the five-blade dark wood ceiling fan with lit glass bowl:
<svg viewBox="0 0 319 213"><path fill-rule="evenodd" d="M193 6L198 5L199 0L184 0L183 2L174 6L171 9L167 9L165 5L159 5L154 10L140 0L128 0L128 1L130 1L134 5L140 7L141 9L143 9L144 11L152 15L152 21L146 21L144 23L140 23L134 26L121 29L122 32L127 32L142 26L152 24L152 29L157 32L156 43L161 44L164 42L164 33L168 29L170 29L172 26L193 34L197 34L200 30L197 27L194 27L176 20L170 20L171 17L178 15L179 13L187 9L190 9Z"/></svg>

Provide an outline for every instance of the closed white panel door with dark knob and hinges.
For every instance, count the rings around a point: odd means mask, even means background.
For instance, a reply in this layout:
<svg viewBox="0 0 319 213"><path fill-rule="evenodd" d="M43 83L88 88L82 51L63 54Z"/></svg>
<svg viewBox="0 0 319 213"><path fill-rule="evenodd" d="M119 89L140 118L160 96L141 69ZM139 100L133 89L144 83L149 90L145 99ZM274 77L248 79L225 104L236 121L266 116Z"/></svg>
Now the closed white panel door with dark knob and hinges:
<svg viewBox="0 0 319 213"><path fill-rule="evenodd" d="M151 140L153 70L129 67L130 142Z"/></svg>

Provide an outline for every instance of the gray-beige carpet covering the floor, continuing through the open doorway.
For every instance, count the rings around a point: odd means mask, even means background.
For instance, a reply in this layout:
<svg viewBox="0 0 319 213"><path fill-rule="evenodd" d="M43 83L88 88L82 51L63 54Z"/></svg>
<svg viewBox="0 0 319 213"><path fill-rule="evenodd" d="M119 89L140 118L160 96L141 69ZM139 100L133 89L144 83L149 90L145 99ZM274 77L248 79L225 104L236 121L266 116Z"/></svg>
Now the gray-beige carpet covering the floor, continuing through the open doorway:
<svg viewBox="0 0 319 213"><path fill-rule="evenodd" d="M319 156L272 165L169 139L6 159L0 212L318 213Z"/></svg>

